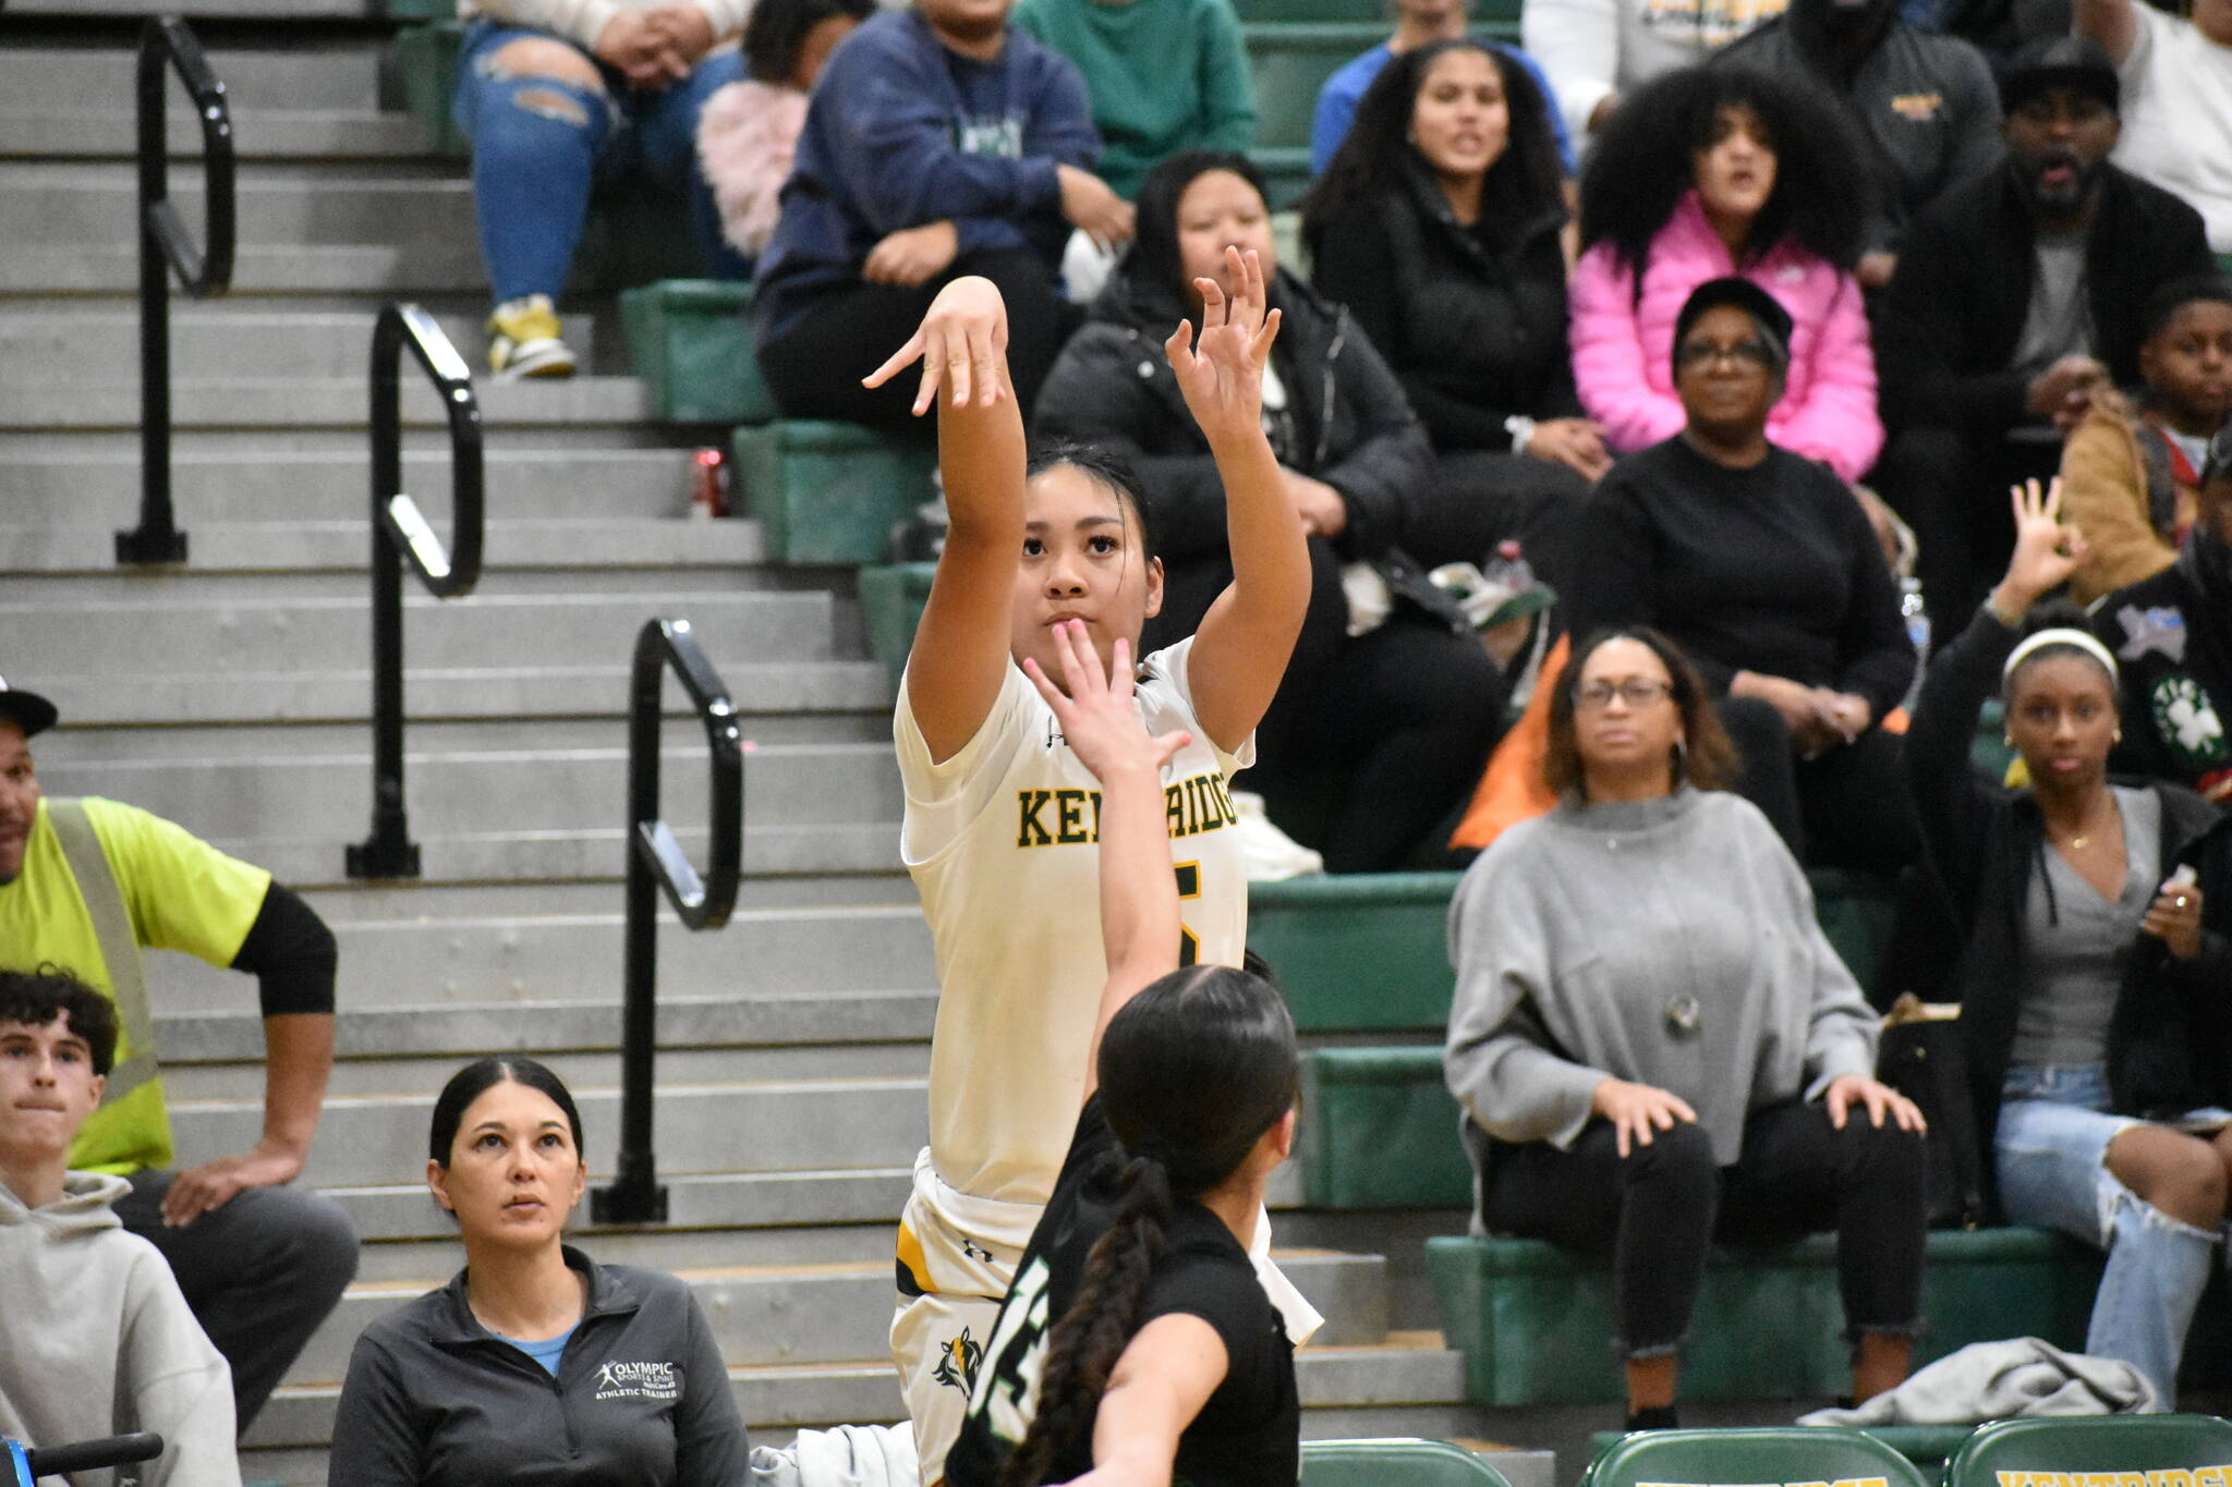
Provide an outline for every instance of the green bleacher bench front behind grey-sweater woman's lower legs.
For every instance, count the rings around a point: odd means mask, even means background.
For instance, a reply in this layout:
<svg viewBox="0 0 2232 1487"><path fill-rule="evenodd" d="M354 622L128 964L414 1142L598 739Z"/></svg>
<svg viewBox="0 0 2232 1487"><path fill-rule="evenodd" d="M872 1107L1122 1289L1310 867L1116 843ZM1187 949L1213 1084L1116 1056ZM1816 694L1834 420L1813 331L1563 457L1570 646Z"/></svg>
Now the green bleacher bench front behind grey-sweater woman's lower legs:
<svg viewBox="0 0 2232 1487"><path fill-rule="evenodd" d="M1612 1269L1538 1240L1426 1242L1442 1331L1464 1351L1475 1405L1607 1405L1625 1398L1612 1355ZM1971 1342L2045 1338L2082 1349L2100 1255L2038 1228L1942 1228L1928 1237L1915 1349L1926 1364ZM1716 1248L1705 1266L1681 1393L1687 1400L1835 1398L1853 1369L1837 1304L1837 1240Z"/></svg>

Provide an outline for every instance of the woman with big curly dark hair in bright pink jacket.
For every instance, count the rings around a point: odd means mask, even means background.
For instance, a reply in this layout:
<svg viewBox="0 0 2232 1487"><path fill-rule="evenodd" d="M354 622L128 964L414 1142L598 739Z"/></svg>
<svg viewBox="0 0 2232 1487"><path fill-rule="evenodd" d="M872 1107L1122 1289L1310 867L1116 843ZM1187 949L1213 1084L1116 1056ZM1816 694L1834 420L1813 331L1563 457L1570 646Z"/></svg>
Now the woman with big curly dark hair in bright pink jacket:
<svg viewBox="0 0 2232 1487"><path fill-rule="evenodd" d="M1620 105L1582 174L1569 290L1574 381L1612 448L1681 433L1674 317L1690 290L1736 274L1795 325L1768 439L1846 484L1875 464L1875 352L1850 274L1866 192L1848 125L1774 78L1692 67Z"/></svg>

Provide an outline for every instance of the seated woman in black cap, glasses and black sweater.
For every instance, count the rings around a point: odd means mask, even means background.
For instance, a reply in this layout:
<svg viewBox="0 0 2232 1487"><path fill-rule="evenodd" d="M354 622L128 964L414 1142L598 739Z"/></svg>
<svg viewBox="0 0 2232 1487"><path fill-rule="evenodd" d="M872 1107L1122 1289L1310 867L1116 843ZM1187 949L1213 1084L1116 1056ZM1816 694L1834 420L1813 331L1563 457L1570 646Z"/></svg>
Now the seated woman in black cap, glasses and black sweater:
<svg viewBox="0 0 2232 1487"><path fill-rule="evenodd" d="M1598 484L1574 629L1649 624L1696 662L1741 756L1736 789L1806 863L1897 872L1920 849L1897 742L1913 642L1882 546L1826 466L1774 446L1790 314L1748 279L1683 303L1683 430Z"/></svg>

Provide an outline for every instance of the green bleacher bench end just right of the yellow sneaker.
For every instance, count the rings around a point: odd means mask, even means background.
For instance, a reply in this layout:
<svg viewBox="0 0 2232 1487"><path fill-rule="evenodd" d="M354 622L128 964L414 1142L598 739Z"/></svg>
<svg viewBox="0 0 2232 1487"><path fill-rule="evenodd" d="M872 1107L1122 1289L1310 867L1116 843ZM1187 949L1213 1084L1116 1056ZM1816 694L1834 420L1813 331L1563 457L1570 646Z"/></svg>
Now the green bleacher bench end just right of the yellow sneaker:
<svg viewBox="0 0 2232 1487"><path fill-rule="evenodd" d="M661 279L620 294L627 361L670 424L783 417L752 352L752 285Z"/></svg>

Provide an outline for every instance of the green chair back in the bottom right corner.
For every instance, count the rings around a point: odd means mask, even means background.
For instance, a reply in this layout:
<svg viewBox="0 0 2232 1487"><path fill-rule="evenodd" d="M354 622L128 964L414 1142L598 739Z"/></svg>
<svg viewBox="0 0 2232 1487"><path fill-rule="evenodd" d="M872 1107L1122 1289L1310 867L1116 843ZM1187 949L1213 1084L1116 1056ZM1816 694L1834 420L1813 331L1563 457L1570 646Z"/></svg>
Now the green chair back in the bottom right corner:
<svg viewBox="0 0 2232 1487"><path fill-rule="evenodd" d="M1998 1420L1962 1442L1946 1487L2228 1487L2232 1425L2216 1416Z"/></svg>

